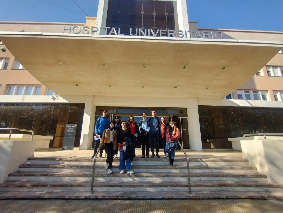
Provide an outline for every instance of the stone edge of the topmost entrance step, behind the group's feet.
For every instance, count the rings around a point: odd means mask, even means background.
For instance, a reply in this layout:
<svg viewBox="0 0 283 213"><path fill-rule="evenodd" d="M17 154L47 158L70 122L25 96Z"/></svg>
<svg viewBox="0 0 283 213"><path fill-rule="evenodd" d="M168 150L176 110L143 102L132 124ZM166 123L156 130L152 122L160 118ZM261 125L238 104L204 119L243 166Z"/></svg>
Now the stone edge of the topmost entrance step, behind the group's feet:
<svg viewBox="0 0 283 213"><path fill-rule="evenodd" d="M54 160L54 161L93 161L91 158L80 158L80 157L29 157L28 160ZM187 161L186 158L175 158L175 161ZM96 161L106 161L106 158L97 158ZM114 158L113 161L119 161L119 158ZM134 161L168 161L168 158L140 158L135 157ZM247 159L243 158L189 158L192 162L248 162Z"/></svg>

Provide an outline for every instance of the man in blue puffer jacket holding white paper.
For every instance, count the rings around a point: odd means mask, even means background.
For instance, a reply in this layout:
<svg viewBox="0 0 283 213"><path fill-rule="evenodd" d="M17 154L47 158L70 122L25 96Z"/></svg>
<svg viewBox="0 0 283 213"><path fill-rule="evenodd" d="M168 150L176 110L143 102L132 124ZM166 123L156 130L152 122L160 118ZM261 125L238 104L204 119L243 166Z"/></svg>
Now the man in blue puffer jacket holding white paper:
<svg viewBox="0 0 283 213"><path fill-rule="evenodd" d="M109 123L110 123L110 119L107 117L107 111L104 110L102 112L102 116L99 117L96 121L95 129L94 129L95 136L96 137L100 136L100 138L101 138L104 129L106 129L106 127L108 126ZM94 158L94 156L97 152L97 148L99 147L99 143L100 143L100 139L94 141L94 152L93 152L92 157L90 157L90 158ZM104 146L102 146L100 148L99 158L102 158L103 149L104 149Z"/></svg>

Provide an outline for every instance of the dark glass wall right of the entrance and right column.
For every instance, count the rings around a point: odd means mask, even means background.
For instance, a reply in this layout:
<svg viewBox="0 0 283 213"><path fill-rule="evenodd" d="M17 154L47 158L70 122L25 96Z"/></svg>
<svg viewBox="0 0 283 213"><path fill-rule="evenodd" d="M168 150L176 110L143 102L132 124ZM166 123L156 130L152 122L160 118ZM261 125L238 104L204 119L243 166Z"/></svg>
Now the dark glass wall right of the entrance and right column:
<svg viewBox="0 0 283 213"><path fill-rule="evenodd" d="M198 111L202 148L232 148L228 138L244 134L283 133L282 108L198 106Z"/></svg>

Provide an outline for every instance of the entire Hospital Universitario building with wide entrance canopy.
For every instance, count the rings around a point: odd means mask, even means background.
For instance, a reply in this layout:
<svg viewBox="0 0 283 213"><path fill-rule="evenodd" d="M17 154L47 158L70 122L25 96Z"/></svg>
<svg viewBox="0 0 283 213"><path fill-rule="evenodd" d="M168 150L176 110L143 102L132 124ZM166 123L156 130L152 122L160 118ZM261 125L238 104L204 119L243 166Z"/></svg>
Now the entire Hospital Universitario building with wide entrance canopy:
<svg viewBox="0 0 283 213"><path fill-rule="evenodd" d="M105 109L135 121L155 109L191 150L283 133L283 32L200 29L185 0L100 0L86 23L0 31L0 128L53 136L51 148L76 123L74 145L91 149Z"/></svg>

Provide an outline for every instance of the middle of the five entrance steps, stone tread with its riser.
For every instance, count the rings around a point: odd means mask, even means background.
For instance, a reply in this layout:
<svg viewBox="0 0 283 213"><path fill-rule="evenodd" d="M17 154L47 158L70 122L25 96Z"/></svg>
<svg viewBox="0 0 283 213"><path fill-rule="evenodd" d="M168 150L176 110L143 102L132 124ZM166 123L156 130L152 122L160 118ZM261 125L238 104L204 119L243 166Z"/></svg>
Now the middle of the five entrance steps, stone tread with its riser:
<svg viewBox="0 0 283 213"><path fill-rule="evenodd" d="M107 170L106 170L107 171ZM120 174L107 172L96 172L95 180L179 180L187 181L188 173L173 173L173 172L162 172L162 173L134 173L134 174ZM75 180L91 180L92 172L15 172L9 175L9 180L54 180L54 181L75 181ZM221 172L191 172L191 180L238 180L238 181L266 181L266 175L261 173L221 173Z"/></svg>

